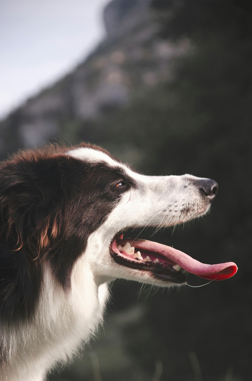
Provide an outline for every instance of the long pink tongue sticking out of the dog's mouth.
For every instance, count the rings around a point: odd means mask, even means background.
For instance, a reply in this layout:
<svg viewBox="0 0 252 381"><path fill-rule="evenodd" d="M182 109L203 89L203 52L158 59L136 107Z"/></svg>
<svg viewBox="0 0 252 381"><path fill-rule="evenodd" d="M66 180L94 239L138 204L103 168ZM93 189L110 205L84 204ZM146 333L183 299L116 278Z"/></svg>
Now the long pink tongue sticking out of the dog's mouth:
<svg viewBox="0 0 252 381"><path fill-rule="evenodd" d="M135 239L135 240L116 240L117 244L125 245L129 242L131 246L148 251L154 251L164 257L168 258L174 264L179 264L182 269L190 272L191 274L198 275L198 277L206 278L209 280L223 280L232 277L238 267L234 262L226 262L219 264L205 264L191 258L189 255L182 251L176 250L170 246L162 245L161 243Z"/></svg>

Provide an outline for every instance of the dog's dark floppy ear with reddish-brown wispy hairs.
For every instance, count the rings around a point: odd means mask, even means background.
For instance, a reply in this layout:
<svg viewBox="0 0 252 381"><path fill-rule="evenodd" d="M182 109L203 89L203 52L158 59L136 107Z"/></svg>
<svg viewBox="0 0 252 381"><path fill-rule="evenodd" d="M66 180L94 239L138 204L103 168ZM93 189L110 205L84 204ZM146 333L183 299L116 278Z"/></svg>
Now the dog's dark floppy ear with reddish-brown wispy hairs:
<svg viewBox="0 0 252 381"><path fill-rule="evenodd" d="M13 251L26 247L36 258L60 234L63 212L57 158L18 157L0 166L0 236Z"/></svg>

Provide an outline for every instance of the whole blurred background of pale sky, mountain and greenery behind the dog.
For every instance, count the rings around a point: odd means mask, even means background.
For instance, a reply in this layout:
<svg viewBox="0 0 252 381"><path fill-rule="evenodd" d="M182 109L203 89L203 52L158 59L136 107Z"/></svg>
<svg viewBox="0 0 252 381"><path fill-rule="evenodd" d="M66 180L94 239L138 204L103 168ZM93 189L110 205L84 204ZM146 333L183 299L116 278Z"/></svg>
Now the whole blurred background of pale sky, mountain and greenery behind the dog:
<svg viewBox="0 0 252 381"><path fill-rule="evenodd" d="M116 280L104 328L50 381L251 379L251 20L251 1L1 0L1 158L89 141L215 179L210 215L152 239L239 267L180 291Z"/></svg>

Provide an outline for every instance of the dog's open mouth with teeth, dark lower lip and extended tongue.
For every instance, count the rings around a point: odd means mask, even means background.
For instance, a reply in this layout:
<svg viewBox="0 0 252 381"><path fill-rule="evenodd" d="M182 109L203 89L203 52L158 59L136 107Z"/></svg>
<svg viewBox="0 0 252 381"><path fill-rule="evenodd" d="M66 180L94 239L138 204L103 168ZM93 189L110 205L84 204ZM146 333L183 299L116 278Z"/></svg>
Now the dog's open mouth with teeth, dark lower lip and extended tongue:
<svg viewBox="0 0 252 381"><path fill-rule="evenodd" d="M149 271L154 278L172 283L185 283L188 273L209 280L224 280L238 269L234 262L204 264L170 246L142 239L123 239L123 235L113 240L110 250L116 263Z"/></svg>

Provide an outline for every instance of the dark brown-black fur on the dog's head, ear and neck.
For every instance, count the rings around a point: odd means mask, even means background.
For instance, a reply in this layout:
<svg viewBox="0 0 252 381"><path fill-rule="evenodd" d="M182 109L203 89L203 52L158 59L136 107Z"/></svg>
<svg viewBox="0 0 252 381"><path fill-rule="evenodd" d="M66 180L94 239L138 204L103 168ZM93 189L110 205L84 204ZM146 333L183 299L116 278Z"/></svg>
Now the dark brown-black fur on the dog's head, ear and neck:
<svg viewBox="0 0 252 381"><path fill-rule="evenodd" d="M5 324L32 316L45 261L67 292L89 235L120 194L134 186L119 168L58 151L22 152L0 166L0 321ZM118 182L122 186L116 187Z"/></svg>

